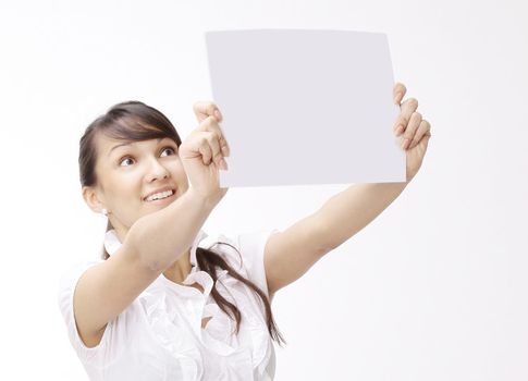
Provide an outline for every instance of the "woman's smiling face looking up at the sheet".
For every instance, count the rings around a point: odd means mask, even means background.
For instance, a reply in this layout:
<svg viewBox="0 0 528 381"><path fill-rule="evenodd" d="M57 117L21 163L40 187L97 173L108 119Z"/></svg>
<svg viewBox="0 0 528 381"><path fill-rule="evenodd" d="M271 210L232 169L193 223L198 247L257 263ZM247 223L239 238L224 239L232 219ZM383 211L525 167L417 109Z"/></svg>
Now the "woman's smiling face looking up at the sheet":
<svg viewBox="0 0 528 381"><path fill-rule="evenodd" d="M126 232L137 219L167 207L188 189L177 146L168 137L123 142L98 134L96 145L98 197L118 231ZM147 199L167 189L172 195Z"/></svg>

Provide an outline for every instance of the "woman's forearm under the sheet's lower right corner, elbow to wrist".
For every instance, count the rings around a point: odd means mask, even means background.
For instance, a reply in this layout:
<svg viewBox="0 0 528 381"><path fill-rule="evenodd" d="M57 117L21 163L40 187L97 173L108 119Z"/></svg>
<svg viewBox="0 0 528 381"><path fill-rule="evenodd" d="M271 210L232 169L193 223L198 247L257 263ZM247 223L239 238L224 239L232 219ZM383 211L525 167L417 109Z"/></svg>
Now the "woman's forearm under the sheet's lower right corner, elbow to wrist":
<svg viewBox="0 0 528 381"><path fill-rule="evenodd" d="M316 213L324 226L324 247L331 250L368 225L407 184L357 184L330 198Z"/></svg>

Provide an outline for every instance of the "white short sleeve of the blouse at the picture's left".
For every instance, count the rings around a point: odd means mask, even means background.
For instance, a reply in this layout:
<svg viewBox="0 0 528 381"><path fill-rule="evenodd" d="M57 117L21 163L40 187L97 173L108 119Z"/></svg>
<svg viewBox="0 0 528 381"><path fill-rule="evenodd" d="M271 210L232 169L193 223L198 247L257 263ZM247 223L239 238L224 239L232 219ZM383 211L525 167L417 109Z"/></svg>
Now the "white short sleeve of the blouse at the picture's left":
<svg viewBox="0 0 528 381"><path fill-rule="evenodd" d="M77 356L83 360L83 362L91 362L96 360L97 356L102 356L99 348L103 346L106 336L108 335L108 331L110 330L110 323L107 325L107 329L105 330L105 334L99 345L94 347L87 347L81 340L77 331L77 325L75 323L75 317L73 312L73 294L75 292L75 287L81 275L83 275L83 273L90 267L98 265L102 261L102 259L91 260L72 266L66 272L63 273L59 284L59 309L61 310L62 317L66 324L70 343L72 344L75 352L77 353Z"/></svg>

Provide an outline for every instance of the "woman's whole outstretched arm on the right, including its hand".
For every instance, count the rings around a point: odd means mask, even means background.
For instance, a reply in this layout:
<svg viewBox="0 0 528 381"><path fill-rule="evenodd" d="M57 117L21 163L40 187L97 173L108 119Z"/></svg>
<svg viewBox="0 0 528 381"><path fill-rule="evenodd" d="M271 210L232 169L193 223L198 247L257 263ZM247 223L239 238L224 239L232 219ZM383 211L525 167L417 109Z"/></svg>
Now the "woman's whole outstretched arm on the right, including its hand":
<svg viewBox="0 0 528 381"><path fill-rule="evenodd" d="M405 93L405 86L396 84L397 105ZM270 295L300 278L322 256L368 225L405 189L421 167L431 136L429 122L421 119L417 108L416 99L406 100L393 127L406 151L407 181L353 185L330 198L314 214L271 235L265 247Z"/></svg>

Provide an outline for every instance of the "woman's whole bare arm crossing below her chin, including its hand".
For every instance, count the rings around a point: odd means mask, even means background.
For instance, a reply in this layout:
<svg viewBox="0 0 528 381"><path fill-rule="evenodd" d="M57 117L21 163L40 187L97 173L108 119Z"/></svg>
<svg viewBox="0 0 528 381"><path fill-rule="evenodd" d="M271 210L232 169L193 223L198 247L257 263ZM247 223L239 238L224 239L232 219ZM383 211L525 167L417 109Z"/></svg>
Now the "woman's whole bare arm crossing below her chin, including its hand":
<svg viewBox="0 0 528 381"><path fill-rule="evenodd" d="M212 114L214 106L207 106ZM107 322L121 314L150 283L193 244L205 221L228 188L220 188L217 150L209 133L219 132L210 118L182 143L181 156L193 184L165 208L140 217L130 228L121 247L106 261L79 278L74 295L75 322L83 342L97 345ZM207 145L207 147L205 147ZM207 148L207 149L206 149ZM217 147L219 148L219 147ZM210 163L201 152L212 153ZM206 157L206 155L204 155Z"/></svg>

